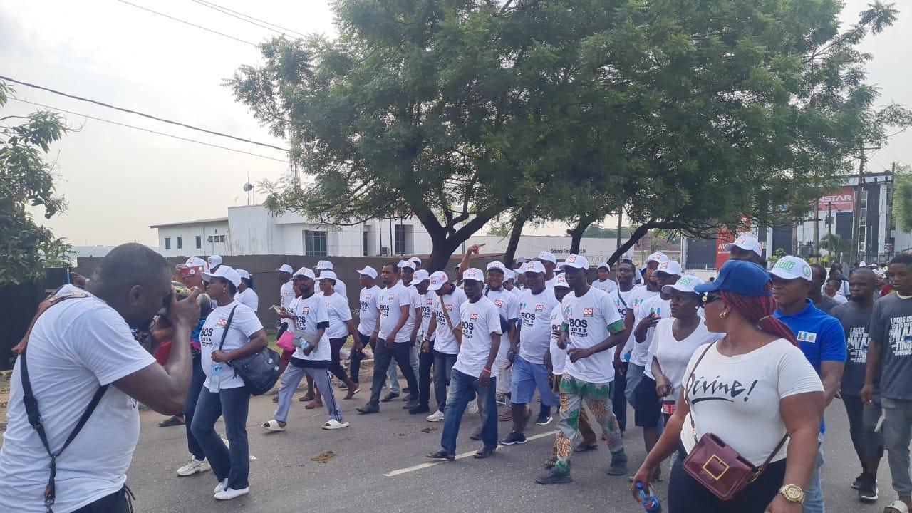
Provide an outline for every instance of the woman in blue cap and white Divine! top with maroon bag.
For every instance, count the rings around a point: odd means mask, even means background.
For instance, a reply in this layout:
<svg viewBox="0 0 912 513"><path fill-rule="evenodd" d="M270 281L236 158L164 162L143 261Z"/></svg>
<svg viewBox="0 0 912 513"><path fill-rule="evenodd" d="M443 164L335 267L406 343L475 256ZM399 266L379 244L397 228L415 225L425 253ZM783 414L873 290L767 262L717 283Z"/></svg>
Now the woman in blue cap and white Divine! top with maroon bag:
<svg viewBox="0 0 912 513"><path fill-rule="evenodd" d="M762 267L736 260L722 266L714 282L695 288L704 294L707 328L726 335L690 358L678 408L634 476L637 500L637 483L648 487L656 467L678 451L668 484L669 513L801 513L803 488L817 459L824 386L792 331L772 317L771 288ZM725 460L697 457L711 446L707 434L755 468L769 466L722 500L710 487L718 489L726 474L737 472L726 466L734 460L721 452ZM693 461L685 462L691 452ZM692 473L713 482L704 485Z"/></svg>

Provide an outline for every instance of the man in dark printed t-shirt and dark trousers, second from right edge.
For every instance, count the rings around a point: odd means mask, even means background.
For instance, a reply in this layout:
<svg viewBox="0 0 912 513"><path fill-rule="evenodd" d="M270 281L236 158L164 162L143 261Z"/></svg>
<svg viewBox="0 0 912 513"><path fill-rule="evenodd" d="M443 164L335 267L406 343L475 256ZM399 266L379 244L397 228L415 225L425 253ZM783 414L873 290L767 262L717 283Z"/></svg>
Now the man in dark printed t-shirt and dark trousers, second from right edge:
<svg viewBox="0 0 912 513"><path fill-rule="evenodd" d="M845 403L845 413L849 417L849 434L862 473L855 478L852 487L858 490L858 499L865 502L877 500L877 467L884 456L883 441L875 433L877 420L880 418L879 378L874 381L874 406L861 402L861 388L865 384L865 367L867 366L868 326L874 309L874 289L876 276L870 269L858 269L849 280L850 301L837 305L830 310L830 315L838 319L845 331L845 346L848 358L841 393Z"/></svg>

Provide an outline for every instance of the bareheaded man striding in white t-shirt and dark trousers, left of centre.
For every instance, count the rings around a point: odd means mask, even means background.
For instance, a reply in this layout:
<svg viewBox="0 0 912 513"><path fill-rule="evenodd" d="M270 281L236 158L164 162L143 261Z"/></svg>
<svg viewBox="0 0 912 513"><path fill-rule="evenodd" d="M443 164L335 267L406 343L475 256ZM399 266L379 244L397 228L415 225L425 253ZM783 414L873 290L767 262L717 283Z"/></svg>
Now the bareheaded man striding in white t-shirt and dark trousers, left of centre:
<svg viewBox="0 0 912 513"><path fill-rule="evenodd" d="M409 408L418 406L418 378L409 365L409 353L411 346L409 342L411 333L404 328L409 322L409 315L413 309L413 301L409 291L402 286L399 281L399 266L394 262L389 262L383 266L380 271L380 277L383 278L383 284L387 287L381 291L378 306L380 317L377 322L377 328L374 330L372 340L376 340L374 352L374 380L373 387L370 391L370 400L363 406L358 406L358 412L362 414L376 414L380 411L380 391L383 388L383 382L386 381L389 363L393 357L399 364L399 372L405 376L406 382L409 383L409 390L414 396L409 403Z"/></svg>

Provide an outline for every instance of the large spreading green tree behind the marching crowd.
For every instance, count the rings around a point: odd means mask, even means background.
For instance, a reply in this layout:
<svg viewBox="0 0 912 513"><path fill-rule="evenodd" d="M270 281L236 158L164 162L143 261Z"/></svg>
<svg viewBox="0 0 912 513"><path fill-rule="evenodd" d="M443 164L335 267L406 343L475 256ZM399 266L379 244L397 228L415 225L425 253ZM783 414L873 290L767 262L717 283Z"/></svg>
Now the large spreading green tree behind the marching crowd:
<svg viewBox="0 0 912 513"><path fill-rule="evenodd" d="M801 215L842 179L886 119L855 47L895 12L840 31L841 6L337 0L336 39L276 38L230 85L312 177L277 187L277 210L415 215L440 268L505 211L578 239L623 208L638 227L615 259L654 228Z"/></svg>

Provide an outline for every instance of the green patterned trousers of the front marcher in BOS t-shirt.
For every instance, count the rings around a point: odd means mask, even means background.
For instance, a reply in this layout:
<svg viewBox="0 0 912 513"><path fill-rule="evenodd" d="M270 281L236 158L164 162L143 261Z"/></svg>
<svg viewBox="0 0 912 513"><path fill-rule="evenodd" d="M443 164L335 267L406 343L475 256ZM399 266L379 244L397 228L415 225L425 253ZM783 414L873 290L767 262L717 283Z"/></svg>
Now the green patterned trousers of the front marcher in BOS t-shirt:
<svg viewBox="0 0 912 513"><path fill-rule="evenodd" d="M617 417L611 411L614 385L614 382L583 382L569 374L564 374L560 385L561 418L557 422L557 433L554 439L554 449L557 453L557 465L554 466L554 470L565 474L570 473L570 455L573 454L576 439L579 436L579 417L584 402L592 414L590 420L593 427L596 425L601 427L612 457L624 455L624 439L621 438Z"/></svg>

